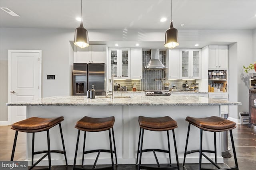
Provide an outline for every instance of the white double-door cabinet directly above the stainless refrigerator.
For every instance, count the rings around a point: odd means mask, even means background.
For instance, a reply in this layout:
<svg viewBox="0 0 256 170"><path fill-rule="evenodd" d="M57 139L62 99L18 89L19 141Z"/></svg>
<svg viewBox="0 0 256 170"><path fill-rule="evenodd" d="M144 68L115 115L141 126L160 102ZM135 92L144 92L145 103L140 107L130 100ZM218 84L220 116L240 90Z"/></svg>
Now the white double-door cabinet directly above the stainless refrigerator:
<svg viewBox="0 0 256 170"><path fill-rule="evenodd" d="M106 63L106 45L74 46L74 63Z"/></svg>

